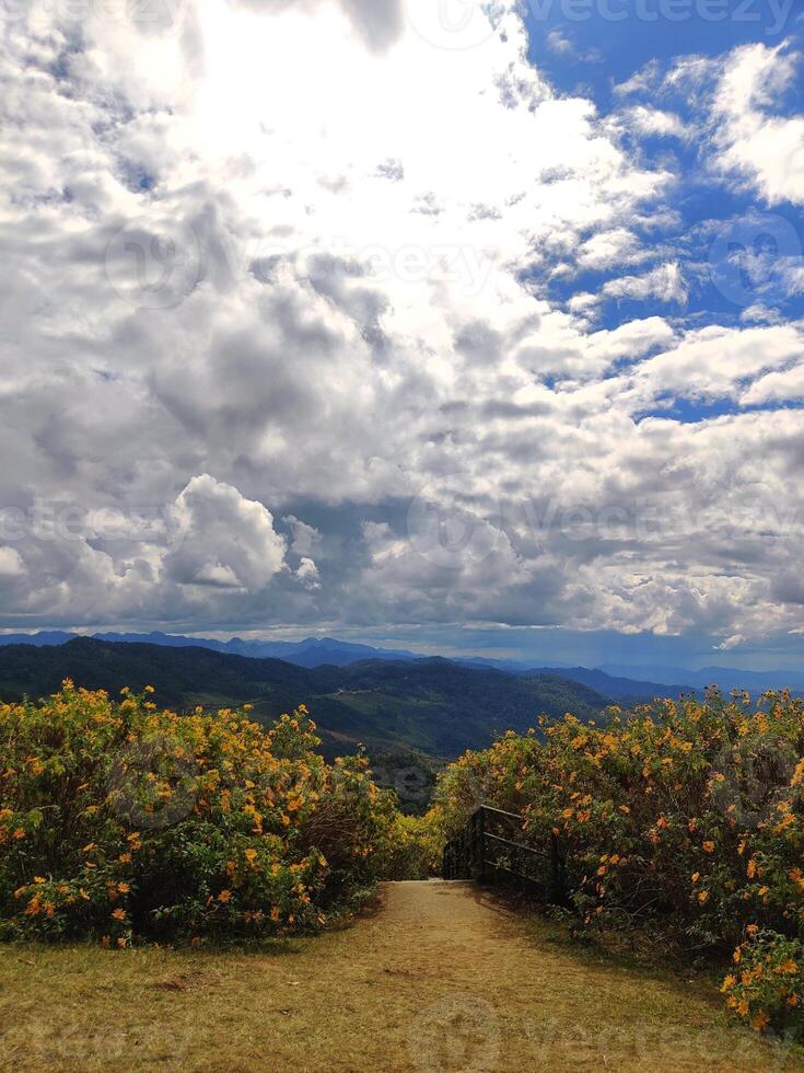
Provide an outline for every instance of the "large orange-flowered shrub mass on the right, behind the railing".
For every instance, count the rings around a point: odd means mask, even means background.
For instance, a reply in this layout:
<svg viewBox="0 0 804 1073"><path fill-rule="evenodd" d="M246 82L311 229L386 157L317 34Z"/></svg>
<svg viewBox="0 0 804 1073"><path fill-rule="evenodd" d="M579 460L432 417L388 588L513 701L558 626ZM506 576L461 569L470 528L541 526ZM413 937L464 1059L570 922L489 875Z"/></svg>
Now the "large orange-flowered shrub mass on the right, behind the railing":
<svg viewBox="0 0 804 1073"><path fill-rule="evenodd" d="M605 726L572 716L509 734L442 776L450 838L481 801L559 839L585 926L661 919L689 949L749 924L804 939L804 701L661 701Z"/></svg>

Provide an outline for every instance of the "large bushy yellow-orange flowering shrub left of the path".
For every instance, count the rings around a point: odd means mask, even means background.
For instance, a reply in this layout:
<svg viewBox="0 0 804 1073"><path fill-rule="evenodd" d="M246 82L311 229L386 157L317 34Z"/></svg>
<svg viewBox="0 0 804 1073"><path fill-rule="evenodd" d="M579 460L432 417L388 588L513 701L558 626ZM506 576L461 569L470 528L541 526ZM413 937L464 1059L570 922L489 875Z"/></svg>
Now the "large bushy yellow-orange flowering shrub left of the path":
<svg viewBox="0 0 804 1073"><path fill-rule="evenodd" d="M364 758L325 763L306 709L265 730L148 692L0 706L5 935L288 934L376 878L393 804Z"/></svg>

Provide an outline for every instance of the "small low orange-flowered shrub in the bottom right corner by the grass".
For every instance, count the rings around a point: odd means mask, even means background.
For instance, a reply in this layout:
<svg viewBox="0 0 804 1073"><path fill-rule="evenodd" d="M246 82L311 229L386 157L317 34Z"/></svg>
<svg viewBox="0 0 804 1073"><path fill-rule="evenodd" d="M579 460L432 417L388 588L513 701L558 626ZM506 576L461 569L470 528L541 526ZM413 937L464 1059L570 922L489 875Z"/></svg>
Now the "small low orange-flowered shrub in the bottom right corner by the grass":
<svg viewBox="0 0 804 1073"><path fill-rule="evenodd" d="M756 926L746 932L721 988L726 1005L757 1031L804 1035L804 944Z"/></svg>

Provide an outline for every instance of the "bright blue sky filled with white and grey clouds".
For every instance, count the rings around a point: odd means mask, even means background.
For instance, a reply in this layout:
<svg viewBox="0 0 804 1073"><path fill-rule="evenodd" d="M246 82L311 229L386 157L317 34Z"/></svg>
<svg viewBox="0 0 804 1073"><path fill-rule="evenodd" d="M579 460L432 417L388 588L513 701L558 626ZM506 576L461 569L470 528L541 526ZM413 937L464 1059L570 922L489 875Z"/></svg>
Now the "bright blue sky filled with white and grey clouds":
<svg viewBox="0 0 804 1073"><path fill-rule="evenodd" d="M804 668L797 3L0 21L0 630Z"/></svg>

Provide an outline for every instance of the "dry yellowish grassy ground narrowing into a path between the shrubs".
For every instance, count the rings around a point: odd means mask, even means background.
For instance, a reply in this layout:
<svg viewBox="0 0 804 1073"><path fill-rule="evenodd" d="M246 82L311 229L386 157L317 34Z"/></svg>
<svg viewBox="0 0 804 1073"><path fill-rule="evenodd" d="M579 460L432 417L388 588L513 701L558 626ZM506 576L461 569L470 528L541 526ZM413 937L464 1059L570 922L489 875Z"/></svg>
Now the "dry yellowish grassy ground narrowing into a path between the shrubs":
<svg viewBox="0 0 804 1073"><path fill-rule="evenodd" d="M10 949L3 1070L804 1069L698 984L572 953L468 884L387 884L376 913L272 956Z"/></svg>

